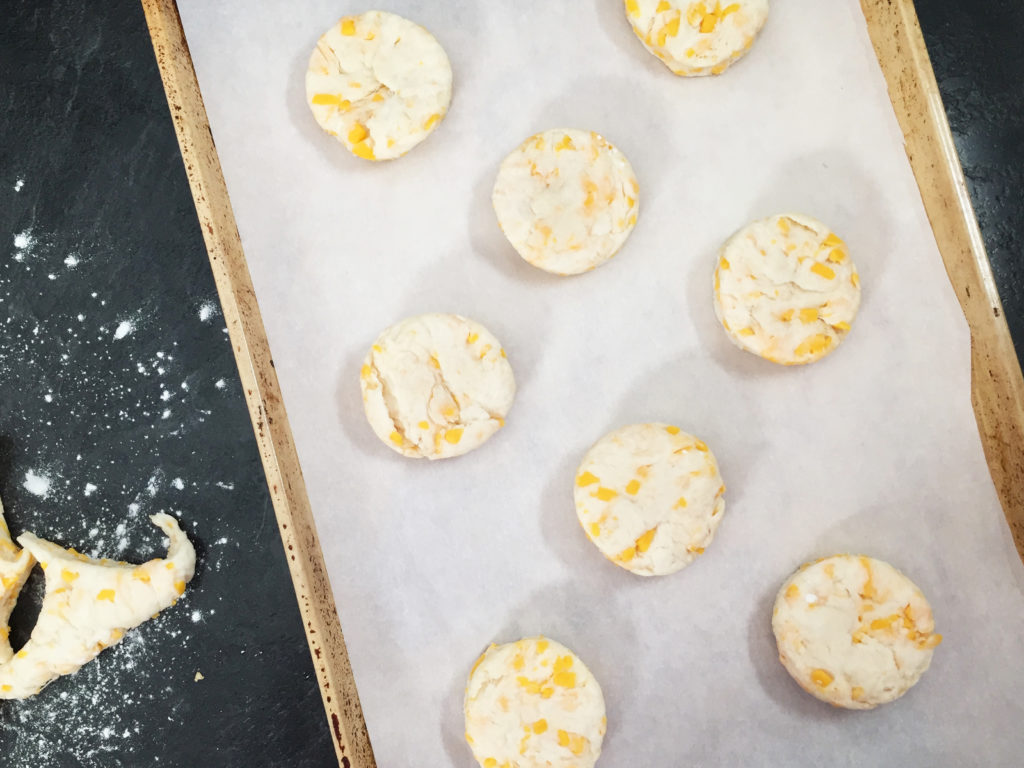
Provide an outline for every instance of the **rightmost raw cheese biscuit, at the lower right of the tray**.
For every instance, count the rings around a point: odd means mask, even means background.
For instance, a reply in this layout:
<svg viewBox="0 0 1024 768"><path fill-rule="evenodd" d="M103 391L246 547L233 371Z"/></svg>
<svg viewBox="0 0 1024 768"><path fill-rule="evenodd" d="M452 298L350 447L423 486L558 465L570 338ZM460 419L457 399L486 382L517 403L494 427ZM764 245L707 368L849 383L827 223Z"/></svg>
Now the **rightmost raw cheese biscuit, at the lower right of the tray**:
<svg viewBox="0 0 1024 768"><path fill-rule="evenodd" d="M942 641L921 590L887 562L835 555L782 585L772 629L794 680L822 701L870 710L921 679Z"/></svg>

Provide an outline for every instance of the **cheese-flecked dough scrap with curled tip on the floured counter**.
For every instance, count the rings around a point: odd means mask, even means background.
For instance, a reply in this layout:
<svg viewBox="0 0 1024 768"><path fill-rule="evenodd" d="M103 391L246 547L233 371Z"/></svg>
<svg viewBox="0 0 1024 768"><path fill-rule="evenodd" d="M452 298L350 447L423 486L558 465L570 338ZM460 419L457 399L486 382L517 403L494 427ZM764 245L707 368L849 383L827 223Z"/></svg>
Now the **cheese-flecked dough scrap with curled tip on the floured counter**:
<svg viewBox="0 0 1024 768"><path fill-rule="evenodd" d="M32 534L17 538L43 566L46 593L29 642L0 666L0 698L38 693L177 601L196 572L196 550L173 517L150 519L171 543L166 558L141 565L96 560Z"/></svg>

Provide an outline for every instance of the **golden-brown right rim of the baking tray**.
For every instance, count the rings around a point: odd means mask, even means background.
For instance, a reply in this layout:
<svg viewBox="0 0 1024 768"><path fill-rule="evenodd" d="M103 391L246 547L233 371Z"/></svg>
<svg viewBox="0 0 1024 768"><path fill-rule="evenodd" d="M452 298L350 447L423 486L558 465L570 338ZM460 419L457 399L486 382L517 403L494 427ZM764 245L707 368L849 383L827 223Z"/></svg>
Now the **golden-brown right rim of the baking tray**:
<svg viewBox="0 0 1024 768"><path fill-rule="evenodd" d="M971 329L971 402L1024 560L1024 378L912 0L860 0L904 148Z"/></svg>

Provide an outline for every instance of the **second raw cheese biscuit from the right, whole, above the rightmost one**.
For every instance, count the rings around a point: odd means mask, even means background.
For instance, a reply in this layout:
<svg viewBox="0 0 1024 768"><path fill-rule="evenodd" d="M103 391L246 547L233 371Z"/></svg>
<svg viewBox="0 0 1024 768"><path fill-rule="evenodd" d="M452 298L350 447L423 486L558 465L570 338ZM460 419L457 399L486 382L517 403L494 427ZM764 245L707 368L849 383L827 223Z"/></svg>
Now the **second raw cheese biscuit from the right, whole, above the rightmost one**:
<svg viewBox="0 0 1024 768"><path fill-rule="evenodd" d="M748 224L719 253L715 312L729 338L772 362L828 354L860 306L860 276L846 244L809 216Z"/></svg>

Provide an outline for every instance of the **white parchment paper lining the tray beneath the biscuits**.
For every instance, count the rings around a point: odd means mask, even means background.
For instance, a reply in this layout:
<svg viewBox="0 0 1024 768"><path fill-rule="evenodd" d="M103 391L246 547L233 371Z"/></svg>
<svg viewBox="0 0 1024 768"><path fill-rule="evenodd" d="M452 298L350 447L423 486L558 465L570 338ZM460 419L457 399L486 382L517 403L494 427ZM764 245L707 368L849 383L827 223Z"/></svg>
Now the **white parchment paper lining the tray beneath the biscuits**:
<svg viewBox="0 0 1024 768"><path fill-rule="evenodd" d="M382 766L473 765L468 668L543 632L598 677L607 765L1016 765L1024 569L970 406L970 340L855 0L775 3L746 60L680 80L617 0L390 3L445 46L444 124L390 164L319 131L303 75L345 3L179 1L260 298ZM530 133L606 135L641 182L640 223L588 275L527 266L489 207ZM718 245L804 211L848 241L864 302L826 360L731 347L711 306ZM508 426L428 464L381 445L358 367L377 333L457 311L503 341ZM575 522L572 470L622 424L706 439L729 486L708 554L640 580ZM801 561L867 552L930 596L931 672L872 713L810 698L775 658L770 606Z"/></svg>

